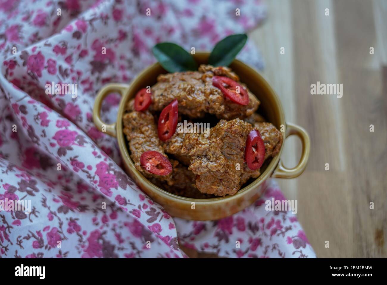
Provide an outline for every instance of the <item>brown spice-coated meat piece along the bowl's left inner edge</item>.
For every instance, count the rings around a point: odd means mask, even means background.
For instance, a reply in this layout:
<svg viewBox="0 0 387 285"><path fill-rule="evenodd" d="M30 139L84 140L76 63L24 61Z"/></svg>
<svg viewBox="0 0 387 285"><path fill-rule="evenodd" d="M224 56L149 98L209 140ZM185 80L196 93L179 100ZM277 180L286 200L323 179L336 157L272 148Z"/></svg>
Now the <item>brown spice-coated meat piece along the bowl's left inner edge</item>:
<svg viewBox="0 0 387 285"><path fill-rule="evenodd" d="M155 175L148 172L140 164L140 157L145 151L158 151L161 155L168 158L161 147L153 115L149 111L133 111L124 114L122 119L123 133L129 142L130 157L136 169L147 178L153 177L165 180L170 185L173 184L171 173L165 176Z"/></svg>

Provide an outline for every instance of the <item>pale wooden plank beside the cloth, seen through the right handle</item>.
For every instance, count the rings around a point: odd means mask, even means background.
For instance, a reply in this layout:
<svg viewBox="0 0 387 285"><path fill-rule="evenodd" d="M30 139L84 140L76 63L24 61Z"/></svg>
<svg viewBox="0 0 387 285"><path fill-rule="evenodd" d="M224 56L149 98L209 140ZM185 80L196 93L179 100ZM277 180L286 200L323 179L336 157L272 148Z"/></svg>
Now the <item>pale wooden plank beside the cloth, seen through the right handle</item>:
<svg viewBox="0 0 387 285"><path fill-rule="evenodd" d="M265 59L263 71L269 84L278 94L283 104L285 118L296 122L295 92L293 80L293 33L291 29L291 3L273 0L268 5L269 21L249 34ZM275 35L275 36L273 36ZM284 54L280 53L284 48ZM281 160L288 167L296 165L300 157L300 142L286 140ZM297 199L296 180L278 180L288 199Z"/></svg>

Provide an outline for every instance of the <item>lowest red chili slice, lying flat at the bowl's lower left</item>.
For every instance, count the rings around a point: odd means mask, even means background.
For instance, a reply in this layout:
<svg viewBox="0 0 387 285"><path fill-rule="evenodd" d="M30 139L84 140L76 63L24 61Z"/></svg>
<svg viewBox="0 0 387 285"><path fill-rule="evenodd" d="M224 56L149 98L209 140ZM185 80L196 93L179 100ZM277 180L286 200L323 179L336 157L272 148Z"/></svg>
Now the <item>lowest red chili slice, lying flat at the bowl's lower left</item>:
<svg viewBox="0 0 387 285"><path fill-rule="evenodd" d="M146 151L142 153L140 163L147 172L156 175L168 175L172 172L172 165L168 158L157 151Z"/></svg>

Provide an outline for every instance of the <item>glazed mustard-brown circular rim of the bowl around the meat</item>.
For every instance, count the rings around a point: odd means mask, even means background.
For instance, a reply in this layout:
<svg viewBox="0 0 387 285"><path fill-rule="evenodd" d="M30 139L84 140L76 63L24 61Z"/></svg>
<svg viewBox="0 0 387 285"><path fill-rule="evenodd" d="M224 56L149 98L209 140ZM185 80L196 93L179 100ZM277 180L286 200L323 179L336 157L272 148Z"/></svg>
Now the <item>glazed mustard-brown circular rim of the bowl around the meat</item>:
<svg viewBox="0 0 387 285"><path fill-rule="evenodd" d="M196 55L194 55L194 56L204 57L204 56L208 56L208 55L209 55L208 52L197 52ZM258 77L260 82L262 82L265 85L265 88L267 88L267 90L271 93L275 103L277 104L277 108L279 109L279 122L280 122L280 124L283 124L285 127L284 132L282 132L283 137L284 137L284 142L285 142L284 134L286 133L286 122L285 122L285 118L284 118L283 108L282 108L281 102L280 102L276 92L271 88L270 84L267 82L265 77L262 76L262 74L260 74L260 72L258 72L257 70L253 69L249 65L247 65L247 64L245 64L237 59L235 59L233 61L233 64L240 65L240 67L248 70L248 72L254 73L255 76ZM160 64L158 62L156 62L155 64L152 64L152 65L146 67L144 70L142 70L135 77L135 79L130 83L128 88L125 90L125 93L122 96L122 99L120 101L120 105L118 108L117 121L116 121L116 134L117 134L118 146L120 148L120 152L121 152L122 158L124 160L124 163L126 163L128 165L128 167L132 170L133 175L135 175L137 177L137 179L142 180L144 182L144 184L146 184L148 189L151 189L152 191L158 192L159 195L164 196L166 199L173 199L175 201L178 201L180 203L185 203L185 204L191 204L192 202L195 202L196 204L202 204L202 205L223 203L226 200L231 201L233 199L238 199L240 196L243 196L243 195L247 194L248 192L254 191L255 189L257 189L257 187L259 185L261 185L266 179L268 179L271 176L271 174L274 172L274 170L276 169L276 167L279 163L279 160L280 160L281 153L282 153L283 148L284 148L284 143L281 145L281 148L279 149L279 153L277 153L277 155L272 158L272 160L270 161L269 165L267 165L264 172L261 173L261 175L259 177L257 177L257 179L255 179L252 183L243 187L238 192L236 192L236 194L234 194L232 196L228 195L228 196L224 196L224 197L205 198L205 199L194 199L194 198L177 196L175 194L171 194L170 192L165 191L165 190L157 187L156 185L152 184L151 182L149 182L149 180L147 180L135 168L134 163L133 163L132 159L130 158L128 147L126 144L126 140L125 140L125 137L123 134L122 116L123 116L123 113L125 111L125 105L127 104L127 101L129 100L128 96L130 94L131 86L134 85L133 83L135 81L137 81L140 77L149 73L150 70L155 69L155 68L160 68L160 67L161 67Z"/></svg>

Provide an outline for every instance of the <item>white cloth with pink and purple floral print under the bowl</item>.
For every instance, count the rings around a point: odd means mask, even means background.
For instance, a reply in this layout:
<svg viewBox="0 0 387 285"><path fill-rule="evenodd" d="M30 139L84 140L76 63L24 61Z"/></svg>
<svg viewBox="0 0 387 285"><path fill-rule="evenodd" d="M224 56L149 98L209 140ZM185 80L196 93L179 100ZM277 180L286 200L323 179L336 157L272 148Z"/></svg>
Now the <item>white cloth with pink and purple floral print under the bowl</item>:
<svg viewBox="0 0 387 285"><path fill-rule="evenodd" d="M0 257L186 257L178 243L228 257L314 257L294 215L265 211L263 199L283 199L274 182L234 216L172 219L92 122L98 90L130 82L154 62L155 43L209 50L264 15L256 0L0 0L0 202L31 203L29 213L0 211ZM251 43L239 58L262 68ZM77 84L77 96L47 92L51 82ZM115 120L119 100L106 98L104 120Z"/></svg>

